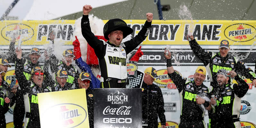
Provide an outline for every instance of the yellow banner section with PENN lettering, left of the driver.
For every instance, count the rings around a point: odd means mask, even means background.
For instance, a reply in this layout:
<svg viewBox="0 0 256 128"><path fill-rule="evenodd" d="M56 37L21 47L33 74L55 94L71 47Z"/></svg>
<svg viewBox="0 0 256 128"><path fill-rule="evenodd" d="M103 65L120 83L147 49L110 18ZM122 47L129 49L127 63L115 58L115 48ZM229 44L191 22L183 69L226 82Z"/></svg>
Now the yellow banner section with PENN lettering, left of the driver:
<svg viewBox="0 0 256 128"><path fill-rule="evenodd" d="M44 45L49 43L49 33L57 30L56 38L61 38L65 44L72 45L74 20L63 21L2 21L1 45L9 45L13 33L17 34L16 42L22 45Z"/></svg>

